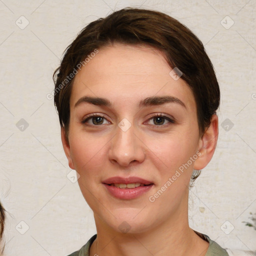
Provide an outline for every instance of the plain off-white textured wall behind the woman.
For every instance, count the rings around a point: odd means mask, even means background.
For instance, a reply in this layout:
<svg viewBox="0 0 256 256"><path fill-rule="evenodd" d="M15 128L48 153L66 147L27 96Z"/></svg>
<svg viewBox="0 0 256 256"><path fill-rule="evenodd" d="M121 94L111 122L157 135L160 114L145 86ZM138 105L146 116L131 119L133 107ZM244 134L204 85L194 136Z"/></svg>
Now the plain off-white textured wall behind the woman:
<svg viewBox="0 0 256 256"><path fill-rule="evenodd" d="M255 0L0 0L4 255L66 255L95 233L46 95L63 50L80 29L125 6L166 12L205 45L221 89L219 140L190 191L190 226L223 247L256 249L256 230L242 222L256 213Z"/></svg>

